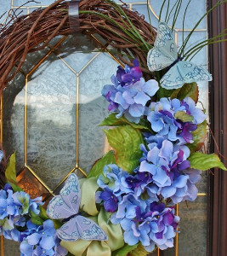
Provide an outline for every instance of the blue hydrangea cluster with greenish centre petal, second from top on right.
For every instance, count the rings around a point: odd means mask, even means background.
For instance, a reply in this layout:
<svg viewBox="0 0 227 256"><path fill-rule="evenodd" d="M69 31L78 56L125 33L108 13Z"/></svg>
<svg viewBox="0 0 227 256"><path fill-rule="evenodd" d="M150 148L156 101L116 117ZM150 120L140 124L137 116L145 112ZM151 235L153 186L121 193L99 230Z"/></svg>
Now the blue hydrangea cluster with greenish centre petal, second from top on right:
<svg viewBox="0 0 227 256"><path fill-rule="evenodd" d="M162 98L160 102L151 102L146 115L157 135L172 142L179 141L179 144L193 143L191 131L206 119L205 113L196 108L190 97L182 101Z"/></svg>

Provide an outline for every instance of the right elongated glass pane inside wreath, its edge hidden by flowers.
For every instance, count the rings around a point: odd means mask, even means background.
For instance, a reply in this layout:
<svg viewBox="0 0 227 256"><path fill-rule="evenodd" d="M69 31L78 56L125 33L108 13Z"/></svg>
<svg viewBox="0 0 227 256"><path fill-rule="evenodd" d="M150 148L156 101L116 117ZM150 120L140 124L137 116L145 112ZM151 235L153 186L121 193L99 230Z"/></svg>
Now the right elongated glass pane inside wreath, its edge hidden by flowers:
<svg viewBox="0 0 227 256"><path fill-rule="evenodd" d="M101 96L118 64L107 53L100 53L79 75L79 166L89 172L94 161L109 149L99 127L108 116L108 102Z"/></svg>

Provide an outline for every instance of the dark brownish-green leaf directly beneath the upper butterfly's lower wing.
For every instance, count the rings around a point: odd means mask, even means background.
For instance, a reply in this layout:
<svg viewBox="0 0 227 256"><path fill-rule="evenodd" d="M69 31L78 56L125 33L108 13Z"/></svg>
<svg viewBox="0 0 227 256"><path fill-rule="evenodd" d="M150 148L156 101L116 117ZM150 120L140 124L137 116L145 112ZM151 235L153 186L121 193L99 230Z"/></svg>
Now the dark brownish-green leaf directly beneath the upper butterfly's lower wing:
<svg viewBox="0 0 227 256"><path fill-rule="evenodd" d="M191 97L194 102L198 102L199 89L196 83L184 84L181 88L174 90L171 99L178 98L180 101L186 97Z"/></svg>

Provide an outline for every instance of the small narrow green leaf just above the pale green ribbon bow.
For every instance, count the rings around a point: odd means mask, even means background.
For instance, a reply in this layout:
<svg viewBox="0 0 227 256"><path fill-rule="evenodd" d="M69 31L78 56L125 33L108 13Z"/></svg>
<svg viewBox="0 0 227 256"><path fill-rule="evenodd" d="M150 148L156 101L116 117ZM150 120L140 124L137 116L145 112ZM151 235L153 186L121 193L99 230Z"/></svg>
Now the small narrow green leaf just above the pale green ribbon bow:
<svg viewBox="0 0 227 256"><path fill-rule="evenodd" d="M99 175L103 172L104 166L110 164L116 164L113 150L106 153L102 158L100 158L94 163L94 166L92 166L92 169L88 174L88 177L99 177Z"/></svg>

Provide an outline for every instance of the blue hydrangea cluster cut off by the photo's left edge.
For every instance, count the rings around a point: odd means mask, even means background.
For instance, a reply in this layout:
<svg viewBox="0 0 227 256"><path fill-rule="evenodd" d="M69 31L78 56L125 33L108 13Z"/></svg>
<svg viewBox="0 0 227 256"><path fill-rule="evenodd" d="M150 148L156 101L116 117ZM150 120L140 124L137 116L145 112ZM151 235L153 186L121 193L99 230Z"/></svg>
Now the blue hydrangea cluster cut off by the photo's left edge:
<svg viewBox="0 0 227 256"><path fill-rule="evenodd" d="M31 199L24 191L15 192L7 183L0 190L0 234L7 239L20 241L18 227L26 227L26 215L39 213L42 197Z"/></svg>

